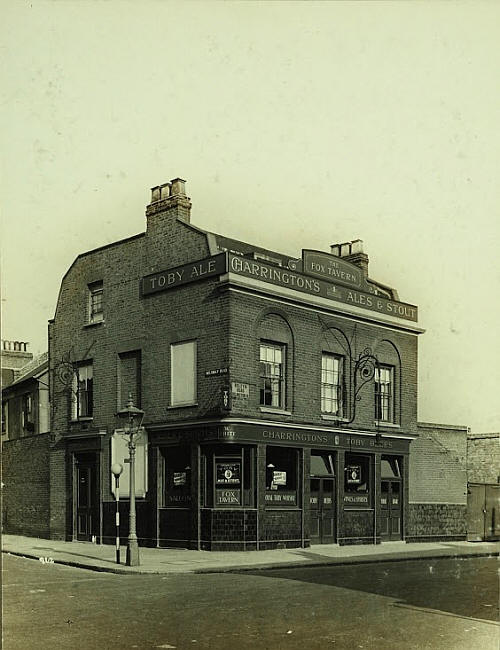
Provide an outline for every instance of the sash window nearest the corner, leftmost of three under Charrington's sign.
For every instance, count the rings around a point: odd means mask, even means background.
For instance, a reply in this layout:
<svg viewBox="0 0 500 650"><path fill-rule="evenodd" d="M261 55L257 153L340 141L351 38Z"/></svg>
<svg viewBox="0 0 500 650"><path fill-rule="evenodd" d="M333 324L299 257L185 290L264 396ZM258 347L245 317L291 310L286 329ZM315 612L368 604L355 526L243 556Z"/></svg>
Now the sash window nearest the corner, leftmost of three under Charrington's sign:
<svg viewBox="0 0 500 650"><path fill-rule="evenodd" d="M279 371L276 372L276 369L279 369ZM270 382L270 390L266 385L267 382ZM266 403L266 394L271 395L271 404ZM284 343L260 342L259 402L260 406L265 408L286 408L286 345Z"/></svg>

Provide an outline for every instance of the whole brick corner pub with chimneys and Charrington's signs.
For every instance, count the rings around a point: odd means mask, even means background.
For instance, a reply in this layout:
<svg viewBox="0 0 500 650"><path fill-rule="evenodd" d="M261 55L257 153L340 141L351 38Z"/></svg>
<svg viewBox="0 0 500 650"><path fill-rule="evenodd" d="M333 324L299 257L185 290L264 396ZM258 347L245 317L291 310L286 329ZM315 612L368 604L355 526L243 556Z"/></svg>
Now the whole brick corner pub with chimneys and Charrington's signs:
<svg viewBox="0 0 500 650"><path fill-rule="evenodd" d="M360 240L295 257L190 221L152 189L144 233L83 253L49 324L50 536L113 543L116 413L145 412L141 545L259 550L410 536L417 307Z"/></svg>

